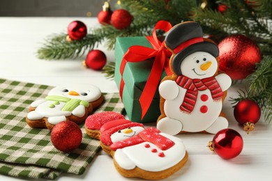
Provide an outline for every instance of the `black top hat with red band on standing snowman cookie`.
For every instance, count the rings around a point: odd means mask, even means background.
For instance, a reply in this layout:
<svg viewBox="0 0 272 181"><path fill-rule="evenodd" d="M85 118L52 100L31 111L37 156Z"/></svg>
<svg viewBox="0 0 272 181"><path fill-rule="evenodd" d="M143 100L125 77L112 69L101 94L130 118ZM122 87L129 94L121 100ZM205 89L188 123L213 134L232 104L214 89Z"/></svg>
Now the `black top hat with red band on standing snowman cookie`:
<svg viewBox="0 0 272 181"><path fill-rule="evenodd" d="M181 62L195 52L207 52L214 57L219 55L219 49L213 42L203 40L202 27L197 22L177 24L167 32L165 45L176 53L172 60L172 69L181 74Z"/></svg>

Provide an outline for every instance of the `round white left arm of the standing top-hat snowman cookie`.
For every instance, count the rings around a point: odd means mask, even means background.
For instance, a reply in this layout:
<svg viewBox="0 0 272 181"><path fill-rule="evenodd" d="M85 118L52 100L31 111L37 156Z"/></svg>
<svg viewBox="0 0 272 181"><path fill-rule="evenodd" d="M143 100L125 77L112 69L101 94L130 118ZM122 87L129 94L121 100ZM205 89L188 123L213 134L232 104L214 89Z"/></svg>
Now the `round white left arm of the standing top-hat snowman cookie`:
<svg viewBox="0 0 272 181"><path fill-rule="evenodd" d="M160 96L165 100L174 100L179 95L179 86L176 81L165 80L160 83L158 88Z"/></svg>

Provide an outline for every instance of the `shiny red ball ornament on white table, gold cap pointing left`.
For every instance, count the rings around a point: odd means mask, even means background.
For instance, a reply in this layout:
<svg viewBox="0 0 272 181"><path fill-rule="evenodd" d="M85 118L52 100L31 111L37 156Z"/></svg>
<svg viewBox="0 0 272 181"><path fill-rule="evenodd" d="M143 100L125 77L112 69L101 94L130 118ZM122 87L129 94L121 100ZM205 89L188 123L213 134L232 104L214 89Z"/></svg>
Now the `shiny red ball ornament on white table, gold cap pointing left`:
<svg viewBox="0 0 272 181"><path fill-rule="evenodd" d="M209 142L209 148L223 159L232 159L243 150L243 138L234 129L222 129Z"/></svg>

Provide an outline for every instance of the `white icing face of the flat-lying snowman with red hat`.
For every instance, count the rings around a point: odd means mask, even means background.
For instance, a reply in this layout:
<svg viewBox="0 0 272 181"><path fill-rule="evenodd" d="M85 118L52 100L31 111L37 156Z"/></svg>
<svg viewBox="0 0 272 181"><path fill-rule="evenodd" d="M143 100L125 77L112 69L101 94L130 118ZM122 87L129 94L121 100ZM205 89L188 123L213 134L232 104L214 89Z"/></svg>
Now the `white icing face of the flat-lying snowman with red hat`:
<svg viewBox="0 0 272 181"><path fill-rule="evenodd" d="M123 141L123 140L128 139L132 136L135 136L135 135L139 134L139 132L142 132L144 130L144 127L135 126L135 127L130 127L130 129L133 129L133 132L130 132L128 134L126 134L124 132L126 129L121 129L120 132L115 132L114 134L112 134L110 136L112 143L115 143L117 141Z"/></svg>

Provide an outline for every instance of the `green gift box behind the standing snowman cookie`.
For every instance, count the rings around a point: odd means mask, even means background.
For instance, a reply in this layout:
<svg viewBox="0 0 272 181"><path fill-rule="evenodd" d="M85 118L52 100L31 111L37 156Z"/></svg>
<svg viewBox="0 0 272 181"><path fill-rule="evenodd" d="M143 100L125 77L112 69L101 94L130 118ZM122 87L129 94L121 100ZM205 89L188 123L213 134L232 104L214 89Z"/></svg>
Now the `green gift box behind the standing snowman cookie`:
<svg viewBox="0 0 272 181"><path fill-rule="evenodd" d="M128 48L133 45L141 45L144 47L152 48L149 40L146 37L122 37L116 39L115 45L115 58L116 66L114 72L114 79L120 91L121 73L120 67L123 60L123 55L128 51ZM153 97L151 105L142 118L142 109L139 103L139 97L142 95L146 81L149 78L153 61L155 58L147 59L137 63L127 62L123 71L123 95L122 100L128 118L137 123L152 123L156 122L158 116L160 116L160 95L158 93L158 87ZM165 77L165 71L161 75L160 79Z"/></svg>

